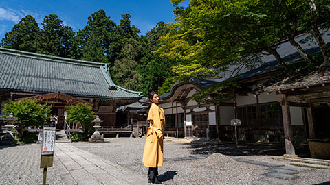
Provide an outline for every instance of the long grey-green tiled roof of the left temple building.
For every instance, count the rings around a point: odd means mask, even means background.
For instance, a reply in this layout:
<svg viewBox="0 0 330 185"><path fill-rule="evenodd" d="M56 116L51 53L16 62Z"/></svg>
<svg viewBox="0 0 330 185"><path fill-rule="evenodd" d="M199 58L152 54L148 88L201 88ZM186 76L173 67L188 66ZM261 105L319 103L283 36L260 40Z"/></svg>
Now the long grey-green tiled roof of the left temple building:
<svg viewBox="0 0 330 185"><path fill-rule="evenodd" d="M107 99L140 99L141 92L116 86L102 63L0 48L0 90Z"/></svg>

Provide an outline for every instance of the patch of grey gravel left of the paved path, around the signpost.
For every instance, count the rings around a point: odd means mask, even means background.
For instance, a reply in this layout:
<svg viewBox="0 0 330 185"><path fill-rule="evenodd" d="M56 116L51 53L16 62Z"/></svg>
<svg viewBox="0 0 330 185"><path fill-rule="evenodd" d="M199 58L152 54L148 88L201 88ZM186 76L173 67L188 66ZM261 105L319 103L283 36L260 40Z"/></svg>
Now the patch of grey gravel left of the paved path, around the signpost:
<svg viewBox="0 0 330 185"><path fill-rule="evenodd" d="M40 153L38 144L0 146L0 184L43 184ZM47 169L47 184L63 184L54 167Z"/></svg>

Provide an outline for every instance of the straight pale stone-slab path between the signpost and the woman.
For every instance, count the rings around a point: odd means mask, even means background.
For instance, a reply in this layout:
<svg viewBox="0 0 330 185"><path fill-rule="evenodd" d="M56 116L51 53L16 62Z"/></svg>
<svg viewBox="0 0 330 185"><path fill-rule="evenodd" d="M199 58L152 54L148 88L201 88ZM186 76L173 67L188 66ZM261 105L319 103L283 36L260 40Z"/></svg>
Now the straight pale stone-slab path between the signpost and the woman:
<svg viewBox="0 0 330 185"><path fill-rule="evenodd" d="M54 153L64 184L148 184L146 177L69 143L56 143Z"/></svg>

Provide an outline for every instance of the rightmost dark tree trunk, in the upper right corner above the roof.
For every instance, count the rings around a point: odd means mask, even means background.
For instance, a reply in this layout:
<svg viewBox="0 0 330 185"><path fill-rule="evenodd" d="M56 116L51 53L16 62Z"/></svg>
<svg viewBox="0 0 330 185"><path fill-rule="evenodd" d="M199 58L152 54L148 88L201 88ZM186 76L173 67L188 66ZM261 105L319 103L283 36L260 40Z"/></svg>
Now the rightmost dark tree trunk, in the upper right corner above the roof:
<svg viewBox="0 0 330 185"><path fill-rule="evenodd" d="M322 38L322 34L320 33L320 30L318 29L318 25L317 25L318 14L316 12L316 5L314 3L314 0L310 0L309 5L311 5L312 34L316 42L318 42L318 46L320 47L320 50L322 51L322 55L324 58L323 64L327 64L330 62L330 52L329 49L327 48L327 44L325 43L325 40Z"/></svg>

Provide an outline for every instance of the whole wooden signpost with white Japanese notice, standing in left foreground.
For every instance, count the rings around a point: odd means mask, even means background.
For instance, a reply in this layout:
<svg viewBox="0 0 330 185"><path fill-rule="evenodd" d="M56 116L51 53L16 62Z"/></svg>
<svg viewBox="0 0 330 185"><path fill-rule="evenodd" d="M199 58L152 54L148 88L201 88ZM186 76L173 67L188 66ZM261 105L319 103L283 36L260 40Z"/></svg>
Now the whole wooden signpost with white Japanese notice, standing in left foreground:
<svg viewBox="0 0 330 185"><path fill-rule="evenodd" d="M54 127L43 129L43 142L41 143L40 168L43 168L43 185L47 180L47 168L53 167L56 130Z"/></svg>

